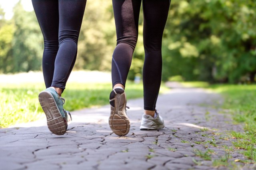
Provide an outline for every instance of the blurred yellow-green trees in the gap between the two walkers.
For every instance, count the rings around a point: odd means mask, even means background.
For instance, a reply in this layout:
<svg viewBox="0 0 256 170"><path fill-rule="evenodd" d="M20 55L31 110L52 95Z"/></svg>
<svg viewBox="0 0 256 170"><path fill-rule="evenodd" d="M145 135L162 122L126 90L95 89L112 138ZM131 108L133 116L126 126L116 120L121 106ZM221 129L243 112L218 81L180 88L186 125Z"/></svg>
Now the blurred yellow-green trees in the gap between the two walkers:
<svg viewBox="0 0 256 170"><path fill-rule="evenodd" d="M116 30L112 1L87 1L74 69L111 69Z"/></svg>

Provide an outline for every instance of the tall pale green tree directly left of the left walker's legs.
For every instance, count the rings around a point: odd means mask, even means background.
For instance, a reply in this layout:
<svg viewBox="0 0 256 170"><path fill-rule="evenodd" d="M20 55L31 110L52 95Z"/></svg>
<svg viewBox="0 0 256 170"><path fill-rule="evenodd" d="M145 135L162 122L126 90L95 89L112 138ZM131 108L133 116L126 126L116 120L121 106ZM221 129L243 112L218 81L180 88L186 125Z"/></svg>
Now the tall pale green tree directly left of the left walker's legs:
<svg viewBox="0 0 256 170"><path fill-rule="evenodd" d="M19 1L14 6L12 40L13 72L40 70L43 37L34 12L27 12Z"/></svg>

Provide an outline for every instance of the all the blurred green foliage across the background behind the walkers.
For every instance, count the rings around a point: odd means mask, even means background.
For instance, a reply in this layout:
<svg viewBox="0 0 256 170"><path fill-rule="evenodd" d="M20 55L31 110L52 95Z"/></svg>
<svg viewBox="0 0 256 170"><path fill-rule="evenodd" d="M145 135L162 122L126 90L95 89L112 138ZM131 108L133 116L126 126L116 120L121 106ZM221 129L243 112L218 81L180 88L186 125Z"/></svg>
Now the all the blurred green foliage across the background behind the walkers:
<svg viewBox="0 0 256 170"><path fill-rule="evenodd" d="M18 3L12 20L0 8L0 73L41 69L43 38L34 12ZM128 75L142 75L143 12ZM245 82L256 74L254 0L172 1L163 36L164 81ZM110 70L116 32L111 1L88 1L74 69Z"/></svg>

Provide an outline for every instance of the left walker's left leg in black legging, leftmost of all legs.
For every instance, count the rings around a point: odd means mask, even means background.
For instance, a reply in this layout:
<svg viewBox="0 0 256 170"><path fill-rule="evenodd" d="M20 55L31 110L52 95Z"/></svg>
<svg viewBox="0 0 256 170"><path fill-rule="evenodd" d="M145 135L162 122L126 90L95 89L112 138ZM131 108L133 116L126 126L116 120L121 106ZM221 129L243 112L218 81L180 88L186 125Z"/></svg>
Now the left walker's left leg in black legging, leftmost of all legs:
<svg viewBox="0 0 256 170"><path fill-rule="evenodd" d="M46 88L52 85L54 63L59 49L58 0L32 0L34 11L44 37L42 69Z"/></svg>

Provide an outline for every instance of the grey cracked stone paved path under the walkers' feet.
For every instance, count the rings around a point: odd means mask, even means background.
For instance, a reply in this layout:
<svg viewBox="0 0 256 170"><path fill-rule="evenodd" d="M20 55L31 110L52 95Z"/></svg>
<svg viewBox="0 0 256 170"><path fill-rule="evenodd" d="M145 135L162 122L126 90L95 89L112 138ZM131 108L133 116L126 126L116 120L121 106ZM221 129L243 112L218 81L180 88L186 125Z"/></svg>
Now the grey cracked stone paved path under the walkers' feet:
<svg viewBox="0 0 256 170"><path fill-rule="evenodd" d="M0 169L255 168L237 161L245 158L230 148L236 139L223 133L241 127L230 124L230 118L215 109L218 101L219 95L203 89L172 89L160 95L157 103L166 128L142 131L143 101L130 100L131 129L124 137L116 136L108 127L109 106L72 112L74 121L63 136L51 134L40 121L36 127L0 129Z"/></svg>

